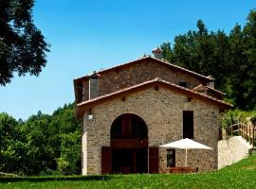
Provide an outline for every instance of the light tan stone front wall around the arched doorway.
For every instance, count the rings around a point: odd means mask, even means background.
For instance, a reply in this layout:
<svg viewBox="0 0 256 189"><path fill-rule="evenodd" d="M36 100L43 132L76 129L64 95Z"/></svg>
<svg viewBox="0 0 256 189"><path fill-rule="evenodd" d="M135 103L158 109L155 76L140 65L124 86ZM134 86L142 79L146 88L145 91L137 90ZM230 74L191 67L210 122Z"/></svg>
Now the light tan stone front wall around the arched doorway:
<svg viewBox="0 0 256 189"><path fill-rule="evenodd" d="M213 150L189 150L188 165L199 171L217 168L219 138L219 109L186 95L170 90L153 88L126 95L125 101L112 99L92 109L93 120L84 115L82 174L101 174L101 146L110 146L113 121L123 113L135 113L148 127L149 146L160 146L182 139L182 112L193 111L194 140ZM159 150L159 170L166 167L166 149ZM176 150L176 166L183 166L185 151ZM86 159L86 160L85 160Z"/></svg>

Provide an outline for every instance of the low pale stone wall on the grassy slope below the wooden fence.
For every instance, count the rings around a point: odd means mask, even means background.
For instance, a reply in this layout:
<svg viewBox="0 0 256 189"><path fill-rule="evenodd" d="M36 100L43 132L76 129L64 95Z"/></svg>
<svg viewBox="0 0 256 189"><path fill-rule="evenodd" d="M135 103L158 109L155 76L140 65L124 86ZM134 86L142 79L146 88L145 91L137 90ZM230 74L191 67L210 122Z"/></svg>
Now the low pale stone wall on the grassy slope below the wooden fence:
<svg viewBox="0 0 256 189"><path fill-rule="evenodd" d="M247 157L250 146L241 136L218 142L218 169Z"/></svg>

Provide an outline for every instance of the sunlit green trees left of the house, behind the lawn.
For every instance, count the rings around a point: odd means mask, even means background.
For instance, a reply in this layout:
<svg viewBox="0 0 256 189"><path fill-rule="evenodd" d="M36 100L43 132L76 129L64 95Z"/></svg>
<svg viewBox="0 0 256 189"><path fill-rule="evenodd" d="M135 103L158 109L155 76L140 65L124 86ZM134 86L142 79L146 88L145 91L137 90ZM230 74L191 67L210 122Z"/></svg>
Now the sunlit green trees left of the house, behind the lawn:
<svg viewBox="0 0 256 189"><path fill-rule="evenodd" d="M56 170L81 172L81 124L75 119L74 104L53 115L38 112L17 122L0 113L0 172L25 175L56 174ZM62 167L64 160L68 166ZM59 169L58 169L59 168Z"/></svg>

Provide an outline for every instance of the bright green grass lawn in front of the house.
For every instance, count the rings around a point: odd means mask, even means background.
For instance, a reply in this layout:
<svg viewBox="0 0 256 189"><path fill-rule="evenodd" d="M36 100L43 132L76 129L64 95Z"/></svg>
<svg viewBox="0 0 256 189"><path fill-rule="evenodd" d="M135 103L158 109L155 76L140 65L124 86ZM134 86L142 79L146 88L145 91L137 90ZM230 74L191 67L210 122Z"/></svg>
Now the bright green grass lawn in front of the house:
<svg viewBox="0 0 256 189"><path fill-rule="evenodd" d="M256 156L198 174L0 178L0 188L256 188Z"/></svg>

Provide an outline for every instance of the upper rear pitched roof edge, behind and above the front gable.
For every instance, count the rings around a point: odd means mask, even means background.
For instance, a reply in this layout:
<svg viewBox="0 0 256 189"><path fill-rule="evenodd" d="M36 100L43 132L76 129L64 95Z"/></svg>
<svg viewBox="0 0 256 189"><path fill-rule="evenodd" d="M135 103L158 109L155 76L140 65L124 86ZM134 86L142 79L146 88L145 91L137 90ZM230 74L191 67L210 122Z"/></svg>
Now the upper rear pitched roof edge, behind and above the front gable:
<svg viewBox="0 0 256 189"><path fill-rule="evenodd" d="M171 68L173 68L173 69L176 69L176 70L178 70L178 71L180 71L180 72L183 72L183 73L185 73L185 74L191 75L191 76L193 76L193 77L198 77L198 78L203 79L203 80L205 80L205 81L207 81L207 82L210 82L210 81L214 80L213 77L206 77L206 76L203 76L203 75L198 74L198 73L196 73L196 72L193 72L193 71L191 71L191 70L185 69L185 68L183 68L183 67L174 65L174 64L172 64L172 63L170 63L170 62L168 62L168 61L165 61L165 60L158 60L158 59L155 59L155 58L150 57L150 56L146 56L146 57L142 57L142 58L137 59L137 60L133 60L133 61L129 61L129 62L126 62L126 63L122 63L122 64L119 64L119 65L117 65L117 66L115 66L115 67L112 67L112 68L109 68L109 69L106 69L106 70L102 70L102 71L96 72L96 73L94 73L94 74L98 74L98 75L101 76L101 75L103 75L103 74L105 74L105 73L108 73L108 72L110 72L110 71L117 70L117 69L120 69L120 68L125 68L125 67L131 66L131 65L133 65L133 64L142 62L143 60L155 60L155 62L157 62L157 63L162 63L163 65L169 66L169 67L171 67ZM79 82L79 81L81 81L81 80L83 80L83 79L87 79L87 78L90 77L90 76L91 76L91 75L76 78L76 79L74 79L74 82Z"/></svg>

